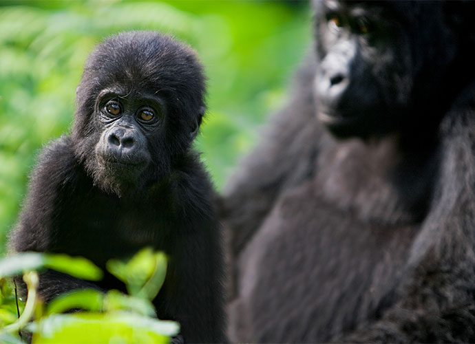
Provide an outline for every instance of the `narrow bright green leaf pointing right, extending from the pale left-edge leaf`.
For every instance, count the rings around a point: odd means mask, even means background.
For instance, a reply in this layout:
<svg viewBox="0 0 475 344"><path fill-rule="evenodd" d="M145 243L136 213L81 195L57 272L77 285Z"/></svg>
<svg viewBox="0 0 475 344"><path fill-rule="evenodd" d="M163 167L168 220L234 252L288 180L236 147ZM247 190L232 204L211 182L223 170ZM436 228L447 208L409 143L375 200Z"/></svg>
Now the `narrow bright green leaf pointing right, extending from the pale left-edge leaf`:
<svg viewBox="0 0 475 344"><path fill-rule="evenodd" d="M45 254L44 259L46 268L64 272L80 279L99 281L103 278L102 270L83 257Z"/></svg>

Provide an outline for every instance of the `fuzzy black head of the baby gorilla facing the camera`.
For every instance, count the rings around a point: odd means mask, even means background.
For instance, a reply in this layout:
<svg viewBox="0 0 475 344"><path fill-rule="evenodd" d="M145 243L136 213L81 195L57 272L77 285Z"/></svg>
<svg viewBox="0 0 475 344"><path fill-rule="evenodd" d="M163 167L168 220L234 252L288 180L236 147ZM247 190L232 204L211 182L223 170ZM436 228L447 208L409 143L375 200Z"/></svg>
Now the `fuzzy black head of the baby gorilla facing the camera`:
<svg viewBox="0 0 475 344"><path fill-rule="evenodd" d="M203 96L189 47L154 32L112 36L89 56L77 90L76 157L106 191L142 191L191 146Z"/></svg>

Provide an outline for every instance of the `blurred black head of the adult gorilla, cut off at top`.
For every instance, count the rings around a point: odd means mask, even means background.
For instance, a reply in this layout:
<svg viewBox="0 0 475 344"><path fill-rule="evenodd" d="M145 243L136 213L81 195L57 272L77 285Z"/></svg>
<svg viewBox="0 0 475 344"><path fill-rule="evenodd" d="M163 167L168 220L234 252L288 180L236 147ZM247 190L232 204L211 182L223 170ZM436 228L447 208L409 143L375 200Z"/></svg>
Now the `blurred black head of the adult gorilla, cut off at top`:
<svg viewBox="0 0 475 344"><path fill-rule="evenodd" d="M319 120L343 138L434 129L473 74L456 6L465 4L316 2Z"/></svg>

